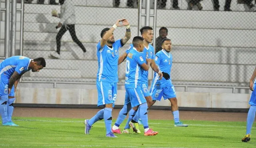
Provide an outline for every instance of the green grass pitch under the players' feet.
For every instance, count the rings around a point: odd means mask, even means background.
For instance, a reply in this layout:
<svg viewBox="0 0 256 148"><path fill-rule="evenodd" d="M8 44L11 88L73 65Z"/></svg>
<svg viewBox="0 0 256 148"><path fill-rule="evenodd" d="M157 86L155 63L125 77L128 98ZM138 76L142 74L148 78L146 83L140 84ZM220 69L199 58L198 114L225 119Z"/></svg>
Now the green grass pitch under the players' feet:
<svg viewBox="0 0 256 148"><path fill-rule="evenodd" d="M255 127L251 141L241 142L246 122L185 120L188 127L174 127L173 120L149 120L158 135L116 134L118 138L107 138L103 120L93 125L90 135L84 134L84 119L15 117L13 121L20 126L0 126L0 148L256 148Z"/></svg>

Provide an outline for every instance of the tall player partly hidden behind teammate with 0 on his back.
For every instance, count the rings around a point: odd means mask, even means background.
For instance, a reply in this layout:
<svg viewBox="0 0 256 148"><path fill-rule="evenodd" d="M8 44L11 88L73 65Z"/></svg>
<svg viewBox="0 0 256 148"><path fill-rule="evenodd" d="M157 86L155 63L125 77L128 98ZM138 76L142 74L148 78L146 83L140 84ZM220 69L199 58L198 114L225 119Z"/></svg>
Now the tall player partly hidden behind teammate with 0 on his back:
<svg viewBox="0 0 256 148"><path fill-rule="evenodd" d="M146 59L152 59L152 63L150 63L150 66L156 73L158 73L160 79L162 79L163 74L161 71L159 71L158 66L154 62L154 47L150 44L153 40L153 28L151 28L150 26L144 26L140 29L140 33L141 33L142 37L144 38L144 45L145 45L143 53L142 53L142 57L143 57L144 61L146 61ZM127 57L128 53L131 49L133 49L132 44L126 50L126 52L119 58L118 64L120 64L120 63L122 63L122 61L124 61L124 59ZM148 103L148 108L149 108L153 105L153 102L152 102L152 97L148 91L148 71L144 71L143 69L142 69L142 77L141 77L141 87L142 87L143 95ZM127 98L127 97L128 97L128 95L126 93L125 98ZM136 114L137 109L138 109L138 107L134 107L131 109L130 104L128 102L125 102L124 107L121 109L121 111L118 114L116 123L112 127L112 131L114 133L121 134L119 126L124 121L124 119L126 118L126 115L129 112L129 118L126 123L126 126L124 127L123 133L129 133L130 126L135 126L137 133L141 133L138 128L139 117L138 117L138 114ZM130 122L130 121L132 121L132 122ZM130 126L129 126L129 124L130 124Z"/></svg>

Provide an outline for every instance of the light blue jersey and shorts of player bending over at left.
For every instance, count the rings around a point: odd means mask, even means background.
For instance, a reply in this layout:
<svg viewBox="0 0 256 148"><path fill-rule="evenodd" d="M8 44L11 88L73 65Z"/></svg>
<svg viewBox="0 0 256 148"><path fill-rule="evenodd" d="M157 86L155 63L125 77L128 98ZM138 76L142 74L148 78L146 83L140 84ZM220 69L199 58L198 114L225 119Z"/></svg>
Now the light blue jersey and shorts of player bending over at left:
<svg viewBox="0 0 256 148"><path fill-rule="evenodd" d="M22 75L30 70L30 68L28 68L30 61L31 59L28 57L13 56L4 59L4 61L0 63L0 96L8 95L9 79L14 71ZM10 96L14 96L14 86L10 92Z"/></svg>

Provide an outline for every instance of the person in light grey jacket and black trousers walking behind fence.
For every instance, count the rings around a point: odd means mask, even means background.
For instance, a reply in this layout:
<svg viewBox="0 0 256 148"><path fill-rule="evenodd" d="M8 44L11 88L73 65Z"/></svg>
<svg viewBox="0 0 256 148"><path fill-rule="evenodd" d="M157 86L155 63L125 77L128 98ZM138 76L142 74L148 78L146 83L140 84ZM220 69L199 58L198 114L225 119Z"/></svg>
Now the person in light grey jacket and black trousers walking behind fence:
<svg viewBox="0 0 256 148"><path fill-rule="evenodd" d="M56 36L56 44L57 44L57 51L50 53L51 56L60 59L60 39L68 30L72 40L83 50L84 57L86 53L86 49L84 45L79 41L76 37L76 30L75 30L75 6L72 0L59 0L60 3L60 14L57 14L56 10L52 11L52 16L60 18L60 22L56 28L60 28L57 36Z"/></svg>

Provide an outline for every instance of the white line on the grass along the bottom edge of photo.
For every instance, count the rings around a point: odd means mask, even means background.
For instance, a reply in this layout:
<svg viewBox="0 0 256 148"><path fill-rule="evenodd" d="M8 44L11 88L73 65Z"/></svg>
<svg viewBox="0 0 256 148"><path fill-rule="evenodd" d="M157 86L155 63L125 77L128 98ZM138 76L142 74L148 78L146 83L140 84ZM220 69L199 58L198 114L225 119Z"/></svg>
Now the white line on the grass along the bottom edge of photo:
<svg viewBox="0 0 256 148"><path fill-rule="evenodd" d="M0 144L0 146L58 146L58 147L108 147L108 148L177 148L177 147L154 147L154 146L100 146L100 145L11 145L11 144Z"/></svg>

